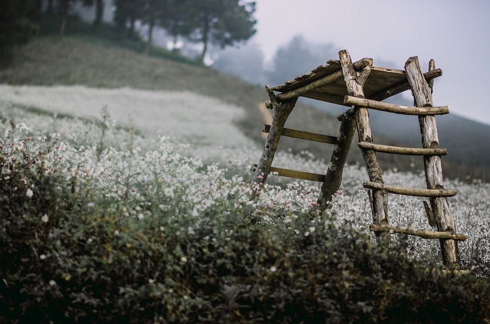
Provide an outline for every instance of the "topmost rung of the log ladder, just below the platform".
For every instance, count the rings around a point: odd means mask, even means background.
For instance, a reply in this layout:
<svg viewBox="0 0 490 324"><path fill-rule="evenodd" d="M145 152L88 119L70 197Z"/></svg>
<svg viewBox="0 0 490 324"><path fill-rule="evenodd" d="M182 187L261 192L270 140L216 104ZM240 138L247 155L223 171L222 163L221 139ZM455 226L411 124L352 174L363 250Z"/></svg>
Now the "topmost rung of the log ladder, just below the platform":
<svg viewBox="0 0 490 324"><path fill-rule="evenodd" d="M344 104L356 105L375 110L381 110L386 112L393 112L403 115L444 115L449 114L448 106L442 107L408 107L395 104L383 103L380 101L364 99L346 95L344 97Z"/></svg>

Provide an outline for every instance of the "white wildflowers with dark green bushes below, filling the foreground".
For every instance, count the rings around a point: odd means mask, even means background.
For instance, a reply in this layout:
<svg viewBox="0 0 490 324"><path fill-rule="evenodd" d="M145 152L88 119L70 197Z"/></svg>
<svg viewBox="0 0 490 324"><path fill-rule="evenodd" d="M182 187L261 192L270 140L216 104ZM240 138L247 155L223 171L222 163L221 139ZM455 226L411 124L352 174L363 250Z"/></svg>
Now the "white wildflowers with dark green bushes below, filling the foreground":
<svg viewBox="0 0 490 324"><path fill-rule="evenodd" d="M36 123L1 121L0 322L490 318L488 202L474 195L486 184L450 184L462 193L451 201L457 226L471 235L463 263L480 277L460 276L437 270L437 242L375 243L359 167L346 169L332 210L311 219L316 186L265 185L251 201L247 172L179 154L166 137L140 148L149 140L107 118L66 119L65 132L41 135ZM67 135L70 125L98 139ZM420 200L390 202L392 222L424 222Z"/></svg>

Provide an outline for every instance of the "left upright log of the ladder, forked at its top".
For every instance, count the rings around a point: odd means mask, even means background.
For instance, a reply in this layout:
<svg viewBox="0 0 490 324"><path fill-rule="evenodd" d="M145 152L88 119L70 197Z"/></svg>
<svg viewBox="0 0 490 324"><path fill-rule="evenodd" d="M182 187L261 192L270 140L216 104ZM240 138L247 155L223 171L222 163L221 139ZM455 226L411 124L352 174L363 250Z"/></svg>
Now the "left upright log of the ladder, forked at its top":
<svg viewBox="0 0 490 324"><path fill-rule="evenodd" d="M344 72L344 79L346 81L347 92L351 96L364 98L364 82L369 76L373 60L366 67L362 68L356 73L352 65L351 57L346 49L343 49L338 53L340 58L340 64L342 71ZM355 108L357 133L359 135L359 142L373 142L373 135L371 133L371 126L369 122L369 114L367 108L362 106L353 106ZM381 168L379 167L378 158L376 152L372 149L364 149L362 151L364 161L367 167L367 173L369 174L369 180L379 184L384 184L381 176ZM373 211L373 223L375 225L388 225L388 200L384 190L372 190L372 211ZM386 240L389 240L389 233L375 232L377 236L382 235Z"/></svg>

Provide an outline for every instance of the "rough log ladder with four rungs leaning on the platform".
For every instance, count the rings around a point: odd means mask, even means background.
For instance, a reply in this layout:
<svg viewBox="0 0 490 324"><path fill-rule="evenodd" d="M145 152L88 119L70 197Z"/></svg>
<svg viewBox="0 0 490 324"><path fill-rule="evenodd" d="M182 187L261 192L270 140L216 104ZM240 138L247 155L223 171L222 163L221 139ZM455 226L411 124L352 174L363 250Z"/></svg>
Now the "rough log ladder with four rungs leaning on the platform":
<svg viewBox="0 0 490 324"><path fill-rule="evenodd" d="M362 71L356 72L346 50L340 51L339 57L349 93L349 95L345 96L344 103L352 105L352 109L346 111L342 117L355 116L359 135L358 146L362 150L370 180L363 183L364 188L370 189L369 195L373 211L373 224L370 229L377 236L388 240L390 233L403 233L427 239L439 239L445 266L452 270L459 270L461 262L457 241L465 240L468 236L455 233L456 228L447 197L456 195L458 191L444 188L440 156L446 155L447 151L445 148L439 147L434 117L434 115L449 113L448 107L432 107L433 81L426 81L417 57L411 57L405 63L405 71L416 107L399 106L365 99L363 84L367 78L366 74L369 74L369 70L364 73ZM431 60L429 71L433 69L435 69L435 63L434 60ZM373 143L367 108L405 115L418 115L423 148L396 147ZM384 184L376 152L423 156L427 189ZM390 226L388 222L387 193L429 197L430 207L427 202L423 202L425 212L430 226L437 227L437 231Z"/></svg>

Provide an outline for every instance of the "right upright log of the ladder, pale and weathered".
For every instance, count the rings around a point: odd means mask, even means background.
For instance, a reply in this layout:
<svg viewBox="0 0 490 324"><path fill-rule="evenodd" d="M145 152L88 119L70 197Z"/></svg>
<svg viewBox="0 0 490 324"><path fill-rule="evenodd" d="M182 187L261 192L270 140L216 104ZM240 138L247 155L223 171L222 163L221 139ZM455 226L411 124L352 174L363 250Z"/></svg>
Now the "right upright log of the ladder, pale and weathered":
<svg viewBox="0 0 490 324"><path fill-rule="evenodd" d="M433 61L430 68L435 68ZM432 89L425 80L419 64L418 57L411 57L405 63L408 82L413 94L415 106L432 107ZM434 116L419 116L420 131L422 134L422 144L424 148L438 148L439 138ZM444 189L443 172L440 156L425 156L425 178L428 189ZM449 210L447 198L431 197L430 205L433 213L437 230L440 232L454 233L456 228L454 219ZM459 260L457 241L452 239L440 239L440 247L443 261L447 268L459 270L461 261Z"/></svg>

